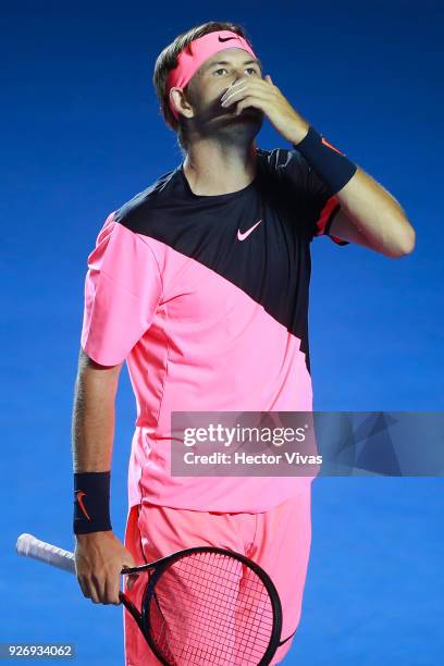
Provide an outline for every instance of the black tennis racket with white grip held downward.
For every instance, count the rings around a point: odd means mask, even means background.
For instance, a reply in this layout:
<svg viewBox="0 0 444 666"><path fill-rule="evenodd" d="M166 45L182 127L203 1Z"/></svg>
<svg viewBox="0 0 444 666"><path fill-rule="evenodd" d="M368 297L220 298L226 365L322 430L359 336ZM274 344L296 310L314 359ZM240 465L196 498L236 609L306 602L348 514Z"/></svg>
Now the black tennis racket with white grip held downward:
<svg viewBox="0 0 444 666"><path fill-rule="evenodd" d="M75 574L74 553L22 534L20 555ZM198 546L122 575L146 576L140 610L124 592L121 602L148 645L166 666L266 666L280 642L282 608L268 574L244 555Z"/></svg>

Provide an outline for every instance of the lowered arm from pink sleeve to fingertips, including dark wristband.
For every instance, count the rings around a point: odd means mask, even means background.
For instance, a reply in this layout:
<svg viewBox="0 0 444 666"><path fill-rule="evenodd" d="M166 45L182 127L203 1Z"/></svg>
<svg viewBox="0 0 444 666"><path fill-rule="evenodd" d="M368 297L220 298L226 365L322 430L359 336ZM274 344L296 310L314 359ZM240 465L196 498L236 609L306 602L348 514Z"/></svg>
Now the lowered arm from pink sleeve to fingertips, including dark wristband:
<svg viewBox="0 0 444 666"><path fill-rule="evenodd" d="M73 410L74 472L107 472L111 469L120 369L121 366L98 366L81 350ZM95 476L75 474L82 478L82 483L84 478ZM77 490L74 502L77 580L84 595L94 603L118 605L121 603L120 572L124 567L135 567L136 563L112 531L106 484L104 492L103 483L97 480L89 488L83 488L86 492Z"/></svg>

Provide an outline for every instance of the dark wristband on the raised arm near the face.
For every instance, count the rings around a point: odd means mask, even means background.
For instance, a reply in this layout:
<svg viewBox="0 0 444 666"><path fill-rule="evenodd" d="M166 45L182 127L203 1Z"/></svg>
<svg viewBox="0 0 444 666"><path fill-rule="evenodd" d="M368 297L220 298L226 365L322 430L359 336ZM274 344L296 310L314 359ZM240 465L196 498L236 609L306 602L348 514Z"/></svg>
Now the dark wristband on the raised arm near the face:
<svg viewBox="0 0 444 666"><path fill-rule="evenodd" d="M293 146L329 186L332 196L355 175L358 166L341 150L332 146L312 125L299 144Z"/></svg>

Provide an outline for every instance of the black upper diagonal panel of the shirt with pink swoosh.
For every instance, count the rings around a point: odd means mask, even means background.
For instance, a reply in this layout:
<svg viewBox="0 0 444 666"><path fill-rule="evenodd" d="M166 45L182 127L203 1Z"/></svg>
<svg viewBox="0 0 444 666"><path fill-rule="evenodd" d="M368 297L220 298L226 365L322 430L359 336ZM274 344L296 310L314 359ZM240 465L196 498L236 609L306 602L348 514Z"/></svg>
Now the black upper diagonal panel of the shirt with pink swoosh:
<svg viewBox="0 0 444 666"><path fill-rule="evenodd" d="M308 180L297 151L258 149L257 157L255 181L237 193L195 195L181 164L122 206L115 220L207 266L261 304L301 341L310 371L309 244L331 194ZM260 219L239 242L237 230Z"/></svg>

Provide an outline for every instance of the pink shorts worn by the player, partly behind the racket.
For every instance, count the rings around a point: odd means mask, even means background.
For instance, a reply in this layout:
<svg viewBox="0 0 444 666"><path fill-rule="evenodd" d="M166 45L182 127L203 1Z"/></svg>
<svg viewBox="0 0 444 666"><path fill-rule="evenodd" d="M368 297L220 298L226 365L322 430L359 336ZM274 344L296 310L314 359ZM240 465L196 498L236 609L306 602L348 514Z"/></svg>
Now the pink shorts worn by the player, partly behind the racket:
<svg viewBox="0 0 444 666"><path fill-rule="evenodd" d="M257 562L272 578L282 603L281 640L291 637L299 624L304 585L311 543L311 488L261 514L193 511L143 503L128 513L125 547L137 564L152 562L198 545L243 553ZM138 581L137 581L138 582ZM140 609L143 585L137 582L131 596ZM158 666L135 620L123 607L126 666ZM272 664L288 652L293 638L278 649Z"/></svg>

